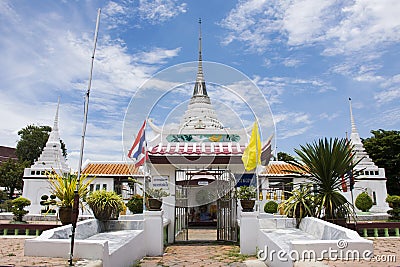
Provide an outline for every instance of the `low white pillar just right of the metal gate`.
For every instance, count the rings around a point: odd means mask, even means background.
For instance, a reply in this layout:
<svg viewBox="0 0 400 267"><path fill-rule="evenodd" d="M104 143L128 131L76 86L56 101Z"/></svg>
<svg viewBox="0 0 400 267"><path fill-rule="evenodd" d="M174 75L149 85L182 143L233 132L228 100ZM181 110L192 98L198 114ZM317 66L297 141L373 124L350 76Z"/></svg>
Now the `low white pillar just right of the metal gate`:
<svg viewBox="0 0 400 267"><path fill-rule="evenodd" d="M259 231L257 212L242 212L240 218L240 254L254 255Z"/></svg>

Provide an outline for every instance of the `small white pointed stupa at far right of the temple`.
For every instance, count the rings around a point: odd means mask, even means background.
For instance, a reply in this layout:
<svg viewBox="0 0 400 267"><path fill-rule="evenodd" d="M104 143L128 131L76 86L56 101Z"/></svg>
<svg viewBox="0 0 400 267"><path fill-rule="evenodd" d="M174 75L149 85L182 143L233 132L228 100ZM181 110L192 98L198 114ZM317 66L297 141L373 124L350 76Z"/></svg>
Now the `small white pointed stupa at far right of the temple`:
<svg viewBox="0 0 400 267"><path fill-rule="evenodd" d="M386 189L386 176L385 169L379 168L375 165L368 153L365 151L364 145L361 142L360 135L358 134L356 124L353 117L353 109L350 103L350 119L351 119L351 135L350 141L354 146L353 153L356 161L360 161L354 168L356 172L361 172L359 176L355 177L354 185L354 202L356 197L366 191L372 198L374 205L371 208L373 213L386 213L389 209L385 199L387 196ZM344 193L347 199L351 202L350 192Z"/></svg>

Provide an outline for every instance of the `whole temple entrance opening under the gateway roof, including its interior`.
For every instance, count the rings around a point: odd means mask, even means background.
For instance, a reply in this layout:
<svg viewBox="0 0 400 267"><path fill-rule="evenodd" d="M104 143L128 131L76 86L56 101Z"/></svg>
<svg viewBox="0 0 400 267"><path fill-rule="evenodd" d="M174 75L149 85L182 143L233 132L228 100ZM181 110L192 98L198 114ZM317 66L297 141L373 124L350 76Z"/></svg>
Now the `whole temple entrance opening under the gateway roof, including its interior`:
<svg viewBox="0 0 400 267"><path fill-rule="evenodd" d="M229 170L176 170L175 241L237 241L236 180Z"/></svg>

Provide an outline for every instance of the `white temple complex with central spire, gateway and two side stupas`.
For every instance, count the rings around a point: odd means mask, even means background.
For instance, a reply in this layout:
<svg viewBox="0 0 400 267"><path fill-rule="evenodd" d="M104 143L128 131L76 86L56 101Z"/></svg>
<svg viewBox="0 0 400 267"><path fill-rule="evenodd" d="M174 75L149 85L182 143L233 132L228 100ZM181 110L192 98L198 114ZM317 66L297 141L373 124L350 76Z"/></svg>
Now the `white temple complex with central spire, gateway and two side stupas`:
<svg viewBox="0 0 400 267"><path fill-rule="evenodd" d="M164 217L170 220L168 241L190 240L188 230L196 227L216 229L216 239L237 241L237 216L240 212L234 188L258 185L261 200L258 211L268 200L281 202L292 191L293 184L305 182L307 175L291 174L294 167L272 161L263 168L246 172L241 157L248 144L251 126L230 129L224 126L207 91L203 72L202 36L199 34L197 73L193 93L179 124L168 128L156 125L147 118L146 130L153 133L147 141L148 160L145 166L135 167L129 159L120 162L86 161L82 173L96 176L90 191L114 190L128 200L133 194L143 194L146 188L163 189L169 196L163 199ZM206 70L205 70L206 71ZM54 127L39 159L25 169L23 196L32 201L30 213L40 213L40 197L49 194L46 171L66 173L69 168L62 155L58 132L58 109ZM350 140L357 170L354 199L367 191L374 201L372 212L386 212L386 178L362 145L356 130L352 109ZM270 156L270 155L269 155ZM293 169L294 170L294 169ZM258 177L258 179L256 178ZM139 183L129 186L129 178ZM286 193L285 193L286 192ZM285 196L286 194L286 196ZM350 192L343 193L352 202ZM129 212L128 212L129 213Z"/></svg>

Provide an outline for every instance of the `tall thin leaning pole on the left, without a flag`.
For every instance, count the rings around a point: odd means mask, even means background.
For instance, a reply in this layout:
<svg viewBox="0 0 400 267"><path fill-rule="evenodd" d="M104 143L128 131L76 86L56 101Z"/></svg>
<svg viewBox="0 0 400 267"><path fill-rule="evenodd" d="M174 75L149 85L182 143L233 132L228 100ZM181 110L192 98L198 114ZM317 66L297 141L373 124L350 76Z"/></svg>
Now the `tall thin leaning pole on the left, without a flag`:
<svg viewBox="0 0 400 267"><path fill-rule="evenodd" d="M99 32L99 24L100 24L100 13L101 9L97 10L97 20L96 20L96 30L94 32L94 45L93 45L93 53L92 53L92 61L90 65L90 75L89 75L89 83L88 83L88 90L85 95L85 108L83 114L83 127L82 127L82 139L81 139L81 148L79 152L79 162L78 162L78 176L76 178L76 188L74 192L74 206L72 209L72 231L71 231L71 250L69 254L69 266L73 266L72 260L74 256L74 243L75 243L75 229L76 223L78 221L79 215L79 184L81 179L81 172L82 172L82 162L83 162L83 148L85 146L85 135L86 135L86 126L87 126L87 116L88 116L88 109L89 109L89 95L90 95L90 88L92 86L92 76L93 76L93 65L94 65L94 55L96 53L96 45L97 45L97 36Z"/></svg>

